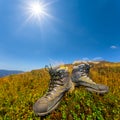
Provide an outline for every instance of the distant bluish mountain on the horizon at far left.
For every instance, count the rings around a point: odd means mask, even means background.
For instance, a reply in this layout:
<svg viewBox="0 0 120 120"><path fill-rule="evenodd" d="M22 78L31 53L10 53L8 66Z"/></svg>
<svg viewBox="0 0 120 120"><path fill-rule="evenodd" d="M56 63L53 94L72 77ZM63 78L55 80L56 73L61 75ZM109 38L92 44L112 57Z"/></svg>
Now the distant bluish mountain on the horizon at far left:
<svg viewBox="0 0 120 120"><path fill-rule="evenodd" d="M18 71L18 70L0 70L0 77L8 76L11 74L19 74L23 73L23 71Z"/></svg>

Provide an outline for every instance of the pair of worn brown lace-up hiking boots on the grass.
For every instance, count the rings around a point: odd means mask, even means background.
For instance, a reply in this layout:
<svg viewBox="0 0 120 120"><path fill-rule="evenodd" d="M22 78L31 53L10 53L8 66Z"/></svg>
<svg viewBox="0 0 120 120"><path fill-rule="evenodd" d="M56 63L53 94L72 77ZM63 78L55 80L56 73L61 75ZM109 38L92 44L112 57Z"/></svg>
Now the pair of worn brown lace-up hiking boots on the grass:
<svg viewBox="0 0 120 120"><path fill-rule="evenodd" d="M47 93L38 99L33 105L33 110L38 116L45 116L56 109L64 94L74 86L85 86L88 91L105 94L108 87L96 84L88 77L90 70L89 64L74 66L72 75L67 67L48 68L50 74L50 84Z"/></svg>

